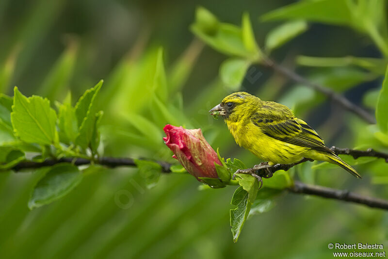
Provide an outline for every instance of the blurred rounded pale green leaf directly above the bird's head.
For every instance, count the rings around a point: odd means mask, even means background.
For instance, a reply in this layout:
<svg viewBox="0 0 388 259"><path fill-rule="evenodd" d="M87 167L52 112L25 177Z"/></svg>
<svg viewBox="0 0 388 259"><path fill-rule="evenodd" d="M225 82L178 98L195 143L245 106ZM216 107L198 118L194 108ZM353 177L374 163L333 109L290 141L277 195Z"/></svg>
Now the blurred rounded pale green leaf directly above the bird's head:
<svg viewBox="0 0 388 259"><path fill-rule="evenodd" d="M220 77L230 91L237 91L241 88L249 65L250 62L239 58L230 58L221 64Z"/></svg>

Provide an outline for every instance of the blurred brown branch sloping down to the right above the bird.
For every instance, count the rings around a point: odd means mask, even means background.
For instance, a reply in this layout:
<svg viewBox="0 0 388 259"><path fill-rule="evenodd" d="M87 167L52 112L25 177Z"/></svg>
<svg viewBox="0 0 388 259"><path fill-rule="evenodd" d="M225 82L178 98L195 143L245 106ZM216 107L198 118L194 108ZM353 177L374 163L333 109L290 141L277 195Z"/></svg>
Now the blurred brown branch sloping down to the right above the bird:
<svg viewBox="0 0 388 259"><path fill-rule="evenodd" d="M263 62L264 62L264 65L266 65L267 67L274 69L276 72L279 72L280 74L290 78L292 81L304 84L307 87L310 87L310 88L324 94L325 96L329 97L333 101L337 102L339 105L341 105L346 110L348 110L352 113L355 113L356 115L358 115L360 118L362 118L366 122L372 123L372 124L376 123L376 120L375 120L374 116L372 116L372 114L368 113L367 111L365 111L361 107L352 103L351 101L349 101L347 98L343 97L342 95L337 94L336 92L334 92L330 88L327 88L327 87L324 87L323 85L308 81L306 78L298 75L297 73L295 73L294 71L292 71L286 67L283 67L282 65L278 65L277 63L275 63L275 61L273 61L269 58L264 58Z"/></svg>

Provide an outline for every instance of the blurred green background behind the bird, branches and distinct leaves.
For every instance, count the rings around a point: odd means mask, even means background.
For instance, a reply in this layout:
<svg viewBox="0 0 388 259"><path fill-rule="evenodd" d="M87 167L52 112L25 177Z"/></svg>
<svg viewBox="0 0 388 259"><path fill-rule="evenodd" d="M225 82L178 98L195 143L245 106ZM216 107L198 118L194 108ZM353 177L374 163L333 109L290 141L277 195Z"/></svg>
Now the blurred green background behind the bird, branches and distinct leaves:
<svg viewBox="0 0 388 259"><path fill-rule="evenodd" d="M104 79L99 108L104 111L105 155L173 162L162 142L162 126L171 123L201 128L224 157L254 165L257 159L207 112L233 90L219 77L226 57L195 39L189 27L199 5L238 25L247 11L262 46L281 22L262 22L259 16L292 2L1 0L0 90L11 94L17 85L27 96L52 101L62 101L70 90L75 101ZM144 85L152 83L162 54L167 99L150 104ZM298 55L381 58L368 36L346 26L309 23L307 32L271 56L373 113L381 73L297 66ZM326 146L387 150L373 137L376 130L355 115L268 68L254 67L261 76L254 82L245 79L242 89L288 105ZM382 161L356 165L363 180L342 169L310 165L294 169L295 178L388 198ZM388 247L387 214L343 202L285 193L276 198L274 209L248 220L234 244L232 186L199 191L193 177L169 174L148 188L136 168L91 167L70 194L30 211L27 203L39 177L39 171L0 174L1 258L331 258L328 243Z"/></svg>

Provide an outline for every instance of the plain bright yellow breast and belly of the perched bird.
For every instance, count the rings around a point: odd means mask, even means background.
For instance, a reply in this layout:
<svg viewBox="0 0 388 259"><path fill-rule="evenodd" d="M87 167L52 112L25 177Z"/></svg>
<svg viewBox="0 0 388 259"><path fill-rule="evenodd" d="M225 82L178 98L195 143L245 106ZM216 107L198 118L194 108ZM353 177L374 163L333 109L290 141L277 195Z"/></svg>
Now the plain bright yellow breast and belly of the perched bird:
<svg viewBox="0 0 388 259"><path fill-rule="evenodd" d="M272 163L293 163L302 160L309 148L296 146L281 140L274 139L264 134L260 127L252 122L228 122L226 125L233 135L236 143L258 158Z"/></svg>

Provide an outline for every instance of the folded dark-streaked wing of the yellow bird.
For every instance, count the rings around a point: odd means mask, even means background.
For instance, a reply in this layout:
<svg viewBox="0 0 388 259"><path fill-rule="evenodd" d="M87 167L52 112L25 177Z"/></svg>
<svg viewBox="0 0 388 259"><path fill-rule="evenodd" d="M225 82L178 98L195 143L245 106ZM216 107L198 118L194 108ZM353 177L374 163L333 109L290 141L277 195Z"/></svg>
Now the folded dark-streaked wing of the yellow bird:
<svg viewBox="0 0 388 259"><path fill-rule="evenodd" d="M278 103L267 103L271 105L263 105L264 107L251 117L253 124L265 135L293 145L331 152L324 146L323 139L318 133L306 122L296 118L290 109Z"/></svg>

